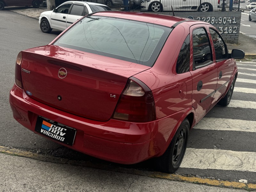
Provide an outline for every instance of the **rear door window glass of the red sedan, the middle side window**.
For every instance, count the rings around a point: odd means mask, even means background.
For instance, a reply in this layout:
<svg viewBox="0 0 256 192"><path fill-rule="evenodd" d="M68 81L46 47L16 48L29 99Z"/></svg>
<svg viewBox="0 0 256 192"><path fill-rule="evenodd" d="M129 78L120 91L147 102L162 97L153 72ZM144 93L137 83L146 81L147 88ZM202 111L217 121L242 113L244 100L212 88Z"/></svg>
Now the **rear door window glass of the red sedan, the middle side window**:
<svg viewBox="0 0 256 192"><path fill-rule="evenodd" d="M204 28L193 30L193 56L195 68L200 68L212 61L209 39Z"/></svg>

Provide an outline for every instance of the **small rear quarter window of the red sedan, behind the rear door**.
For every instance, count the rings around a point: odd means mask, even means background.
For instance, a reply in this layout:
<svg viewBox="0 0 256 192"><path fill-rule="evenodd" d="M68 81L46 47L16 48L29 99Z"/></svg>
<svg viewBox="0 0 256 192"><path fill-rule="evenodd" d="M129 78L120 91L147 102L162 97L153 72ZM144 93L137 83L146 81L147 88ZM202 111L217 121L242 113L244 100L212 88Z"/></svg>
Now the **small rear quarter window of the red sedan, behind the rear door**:
<svg viewBox="0 0 256 192"><path fill-rule="evenodd" d="M190 41L189 35L186 37L176 63L176 72L177 74L185 73L189 71L189 62L190 62Z"/></svg>

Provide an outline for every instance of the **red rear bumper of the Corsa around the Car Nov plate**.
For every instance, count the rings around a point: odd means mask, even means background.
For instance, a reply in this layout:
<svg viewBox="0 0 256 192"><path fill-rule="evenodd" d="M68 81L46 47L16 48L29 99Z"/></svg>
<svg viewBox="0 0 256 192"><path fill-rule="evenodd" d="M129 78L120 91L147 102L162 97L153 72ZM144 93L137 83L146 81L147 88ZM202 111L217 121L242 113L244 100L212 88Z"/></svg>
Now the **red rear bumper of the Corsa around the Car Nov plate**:
<svg viewBox="0 0 256 192"><path fill-rule="evenodd" d="M33 100L16 84L12 87L9 101L13 117L35 133L38 116L75 128L73 146L53 141L82 153L121 164L138 163L156 155L153 138L158 121L130 123L113 119L107 122L86 119Z"/></svg>

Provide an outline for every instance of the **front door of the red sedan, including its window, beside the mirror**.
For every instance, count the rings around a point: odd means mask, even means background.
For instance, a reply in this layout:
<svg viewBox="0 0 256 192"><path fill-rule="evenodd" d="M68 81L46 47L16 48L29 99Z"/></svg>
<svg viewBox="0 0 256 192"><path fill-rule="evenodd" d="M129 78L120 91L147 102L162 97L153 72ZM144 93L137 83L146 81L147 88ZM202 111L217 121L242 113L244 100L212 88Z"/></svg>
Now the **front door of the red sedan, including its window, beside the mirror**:
<svg viewBox="0 0 256 192"><path fill-rule="evenodd" d="M209 28L209 32L215 52L213 57L216 60L216 67L218 68L218 82L212 100L212 105L215 105L228 88L232 74L232 60L228 59L228 49L219 32L214 28Z"/></svg>

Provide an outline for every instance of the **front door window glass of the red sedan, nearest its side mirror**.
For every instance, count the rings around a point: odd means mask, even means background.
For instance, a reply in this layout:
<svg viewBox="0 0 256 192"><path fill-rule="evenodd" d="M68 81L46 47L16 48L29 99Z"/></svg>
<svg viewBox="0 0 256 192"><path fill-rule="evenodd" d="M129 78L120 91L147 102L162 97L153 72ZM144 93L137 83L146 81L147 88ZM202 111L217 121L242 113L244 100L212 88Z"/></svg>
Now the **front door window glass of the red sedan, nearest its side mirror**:
<svg viewBox="0 0 256 192"><path fill-rule="evenodd" d="M220 38L220 35L211 28L210 28L210 34L212 36L212 42L214 45L216 60L226 59L227 58L226 46L223 40Z"/></svg>

